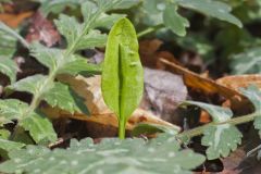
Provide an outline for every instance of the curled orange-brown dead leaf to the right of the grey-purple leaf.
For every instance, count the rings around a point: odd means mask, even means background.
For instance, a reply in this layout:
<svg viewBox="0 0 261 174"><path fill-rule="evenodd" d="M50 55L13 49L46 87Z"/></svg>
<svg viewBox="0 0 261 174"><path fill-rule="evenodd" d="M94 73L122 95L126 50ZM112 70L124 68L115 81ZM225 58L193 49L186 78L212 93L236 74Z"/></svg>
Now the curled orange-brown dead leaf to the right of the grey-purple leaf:
<svg viewBox="0 0 261 174"><path fill-rule="evenodd" d="M231 108L235 115L248 114L252 111L251 102L238 89L250 84L261 86L260 75L228 76L213 80L165 59L160 59L160 61L166 66L167 71L183 75L188 87L208 96L215 94L223 96L226 99L223 107ZM200 117L203 123L209 122L208 114L202 113Z"/></svg>

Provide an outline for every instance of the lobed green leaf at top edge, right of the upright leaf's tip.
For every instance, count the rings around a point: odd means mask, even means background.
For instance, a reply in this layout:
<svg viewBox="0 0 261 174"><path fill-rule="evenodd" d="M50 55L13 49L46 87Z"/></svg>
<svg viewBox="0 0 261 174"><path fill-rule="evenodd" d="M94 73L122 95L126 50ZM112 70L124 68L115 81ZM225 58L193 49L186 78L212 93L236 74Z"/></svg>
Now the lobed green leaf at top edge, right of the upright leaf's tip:
<svg viewBox="0 0 261 174"><path fill-rule="evenodd" d="M164 24L178 36L185 36L189 22L178 14L179 8L195 10L207 16L243 27L241 22L231 13L232 8L229 5L212 0L145 0L141 9L144 14L140 17L144 17L144 24L150 26Z"/></svg>

